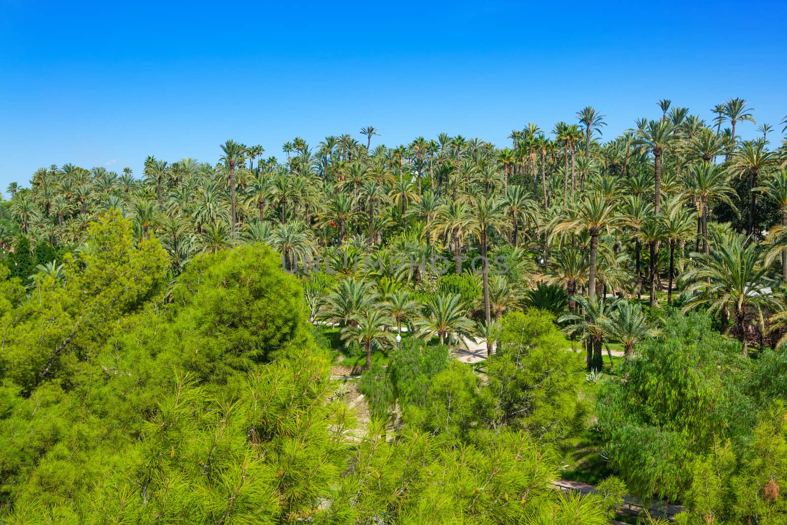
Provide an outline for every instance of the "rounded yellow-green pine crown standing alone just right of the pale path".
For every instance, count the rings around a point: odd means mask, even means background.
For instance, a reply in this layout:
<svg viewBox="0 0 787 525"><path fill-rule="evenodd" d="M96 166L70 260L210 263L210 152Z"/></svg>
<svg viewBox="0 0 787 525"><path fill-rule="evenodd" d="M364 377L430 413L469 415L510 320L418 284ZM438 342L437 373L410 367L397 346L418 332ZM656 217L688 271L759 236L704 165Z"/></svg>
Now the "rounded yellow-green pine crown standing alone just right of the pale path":
<svg viewBox="0 0 787 525"><path fill-rule="evenodd" d="M493 426L522 428L541 441L562 442L582 428L586 407L578 399L582 355L541 310L513 312L503 318L497 354L483 390Z"/></svg>

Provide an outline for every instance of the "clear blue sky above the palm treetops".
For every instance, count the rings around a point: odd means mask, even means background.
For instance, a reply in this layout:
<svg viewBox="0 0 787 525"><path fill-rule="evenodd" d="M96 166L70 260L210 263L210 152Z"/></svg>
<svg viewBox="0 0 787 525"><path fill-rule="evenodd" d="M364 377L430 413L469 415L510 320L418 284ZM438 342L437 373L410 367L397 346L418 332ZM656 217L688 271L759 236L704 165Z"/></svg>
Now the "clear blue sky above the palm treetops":
<svg viewBox="0 0 787 525"><path fill-rule="evenodd" d="M0 0L0 190L35 168L282 158L299 135L393 146L441 131L498 145L593 105L605 137L671 98L787 114L784 2L36 2ZM756 126L742 124L753 137Z"/></svg>

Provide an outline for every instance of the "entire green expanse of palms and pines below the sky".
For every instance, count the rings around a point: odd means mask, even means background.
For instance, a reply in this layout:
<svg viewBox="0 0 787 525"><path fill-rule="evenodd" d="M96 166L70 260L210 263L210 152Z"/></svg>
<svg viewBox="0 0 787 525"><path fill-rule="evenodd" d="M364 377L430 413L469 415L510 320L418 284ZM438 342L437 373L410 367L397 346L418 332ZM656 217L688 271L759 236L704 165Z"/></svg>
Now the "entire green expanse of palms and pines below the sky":
<svg viewBox="0 0 787 525"><path fill-rule="evenodd" d="M741 98L658 106L606 142L586 107L502 148L370 126L10 184L2 519L608 523L627 491L783 523L785 146ZM588 432L609 477L552 490Z"/></svg>

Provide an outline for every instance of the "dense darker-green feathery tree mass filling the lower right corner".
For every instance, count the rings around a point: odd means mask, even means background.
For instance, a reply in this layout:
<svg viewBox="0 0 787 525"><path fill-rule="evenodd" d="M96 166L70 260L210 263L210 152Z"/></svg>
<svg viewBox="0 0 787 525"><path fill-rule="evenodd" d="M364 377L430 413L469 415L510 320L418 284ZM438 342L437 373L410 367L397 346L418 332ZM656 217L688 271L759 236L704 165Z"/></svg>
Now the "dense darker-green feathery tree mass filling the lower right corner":
<svg viewBox="0 0 787 525"><path fill-rule="evenodd" d="M670 316L602 389L608 457L634 494L687 502L685 523L784 523L783 377L781 351L750 360L708 316Z"/></svg>

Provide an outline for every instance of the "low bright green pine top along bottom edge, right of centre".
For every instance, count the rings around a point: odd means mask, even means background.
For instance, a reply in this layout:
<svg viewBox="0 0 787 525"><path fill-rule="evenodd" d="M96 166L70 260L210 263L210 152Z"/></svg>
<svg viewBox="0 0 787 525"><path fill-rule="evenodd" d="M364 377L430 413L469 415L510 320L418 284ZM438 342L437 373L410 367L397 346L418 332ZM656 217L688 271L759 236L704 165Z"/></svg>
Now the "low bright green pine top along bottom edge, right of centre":
<svg viewBox="0 0 787 525"><path fill-rule="evenodd" d="M379 430L342 486L339 497L356 502L343 523L608 523L600 497L549 488L556 457L527 434L449 447L416 431L386 442Z"/></svg>

